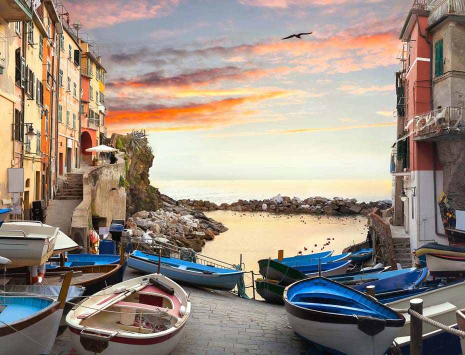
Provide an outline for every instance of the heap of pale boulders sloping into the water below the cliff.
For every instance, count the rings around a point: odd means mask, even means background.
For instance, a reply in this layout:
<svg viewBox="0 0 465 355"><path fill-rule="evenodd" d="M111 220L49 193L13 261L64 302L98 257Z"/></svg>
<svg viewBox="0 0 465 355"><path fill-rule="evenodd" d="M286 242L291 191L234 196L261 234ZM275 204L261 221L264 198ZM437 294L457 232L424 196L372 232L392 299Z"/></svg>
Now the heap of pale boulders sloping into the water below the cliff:
<svg viewBox="0 0 465 355"><path fill-rule="evenodd" d="M176 208L175 211L142 210L129 217L126 224L134 236L143 240L165 238L171 244L189 247L194 251L201 251L206 240L213 240L216 235L227 230L222 223L208 218L202 212L183 208Z"/></svg>

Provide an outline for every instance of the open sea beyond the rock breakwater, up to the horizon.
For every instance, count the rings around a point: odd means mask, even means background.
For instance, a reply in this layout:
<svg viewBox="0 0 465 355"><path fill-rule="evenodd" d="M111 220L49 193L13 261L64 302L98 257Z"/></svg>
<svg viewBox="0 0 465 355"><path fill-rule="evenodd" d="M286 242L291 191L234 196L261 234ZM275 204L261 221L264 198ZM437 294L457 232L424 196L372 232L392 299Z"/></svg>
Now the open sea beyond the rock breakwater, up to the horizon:
<svg viewBox="0 0 465 355"><path fill-rule="evenodd" d="M174 199L204 199L232 203L240 199L310 196L377 201L391 196L391 180L152 180L151 184Z"/></svg>

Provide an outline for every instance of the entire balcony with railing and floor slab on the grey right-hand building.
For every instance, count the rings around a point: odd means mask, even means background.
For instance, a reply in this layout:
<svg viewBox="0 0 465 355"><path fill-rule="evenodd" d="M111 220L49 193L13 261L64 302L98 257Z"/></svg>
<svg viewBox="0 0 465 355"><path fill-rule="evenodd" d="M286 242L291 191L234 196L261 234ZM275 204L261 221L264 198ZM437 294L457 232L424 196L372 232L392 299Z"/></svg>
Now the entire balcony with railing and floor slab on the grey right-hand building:
<svg viewBox="0 0 465 355"><path fill-rule="evenodd" d="M445 107L416 116L413 120L413 140L438 141L451 134L465 137L465 108Z"/></svg>

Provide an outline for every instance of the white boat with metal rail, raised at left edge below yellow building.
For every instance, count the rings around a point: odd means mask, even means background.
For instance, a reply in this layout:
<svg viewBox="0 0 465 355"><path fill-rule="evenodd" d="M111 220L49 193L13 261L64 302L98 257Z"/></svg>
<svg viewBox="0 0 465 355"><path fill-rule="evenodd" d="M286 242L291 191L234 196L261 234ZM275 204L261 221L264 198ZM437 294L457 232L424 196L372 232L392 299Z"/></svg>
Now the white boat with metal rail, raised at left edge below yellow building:
<svg viewBox="0 0 465 355"><path fill-rule="evenodd" d="M0 226L1 255L12 266L38 266L53 253L59 229L42 223L8 222Z"/></svg>

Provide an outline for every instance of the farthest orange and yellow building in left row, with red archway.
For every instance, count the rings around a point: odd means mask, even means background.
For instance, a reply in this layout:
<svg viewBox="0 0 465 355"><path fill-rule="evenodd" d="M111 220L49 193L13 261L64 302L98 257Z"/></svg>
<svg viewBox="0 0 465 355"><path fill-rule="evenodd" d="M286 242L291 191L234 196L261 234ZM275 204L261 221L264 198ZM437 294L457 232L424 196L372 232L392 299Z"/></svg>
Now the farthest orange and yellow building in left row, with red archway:
<svg viewBox="0 0 465 355"><path fill-rule="evenodd" d="M98 45L88 33L80 35L82 47L82 97L81 97L81 159L88 163L92 153L85 149L100 144L100 137L106 136L105 116L105 73L101 64Z"/></svg>

